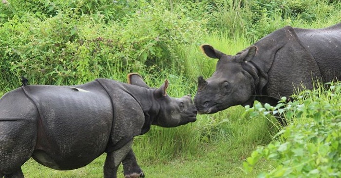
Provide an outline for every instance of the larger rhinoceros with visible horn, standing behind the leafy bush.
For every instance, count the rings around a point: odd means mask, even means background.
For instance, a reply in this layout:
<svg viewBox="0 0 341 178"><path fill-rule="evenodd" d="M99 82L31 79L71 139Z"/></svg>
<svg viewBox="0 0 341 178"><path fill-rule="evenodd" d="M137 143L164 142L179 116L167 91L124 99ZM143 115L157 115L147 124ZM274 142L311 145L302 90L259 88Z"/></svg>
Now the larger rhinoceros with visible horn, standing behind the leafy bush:
<svg viewBox="0 0 341 178"><path fill-rule="evenodd" d="M219 59L206 81L199 77L194 104L198 113L216 113L258 100L276 105L297 87L341 79L341 23L324 29L286 26L252 46L227 55L209 45L202 51Z"/></svg>

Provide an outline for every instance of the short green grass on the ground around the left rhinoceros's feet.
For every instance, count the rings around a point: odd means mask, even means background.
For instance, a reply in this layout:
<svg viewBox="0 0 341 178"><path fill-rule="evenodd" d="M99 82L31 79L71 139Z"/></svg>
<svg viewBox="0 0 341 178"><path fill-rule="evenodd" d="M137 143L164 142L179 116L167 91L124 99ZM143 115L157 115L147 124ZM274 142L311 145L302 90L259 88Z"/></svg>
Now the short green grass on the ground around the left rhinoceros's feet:
<svg viewBox="0 0 341 178"><path fill-rule="evenodd" d="M244 158L229 158L211 150L206 156L196 160L171 160L169 162L140 162L146 178L253 178L256 173L245 174L242 171ZM218 158L218 159L217 159ZM46 168L34 160L23 166L25 178L103 178L103 162L105 154L85 167L71 171L57 171ZM269 162L262 162L259 167L268 167ZM258 168L259 168L258 167ZM257 167L256 167L257 169ZM117 178L124 178L122 166Z"/></svg>

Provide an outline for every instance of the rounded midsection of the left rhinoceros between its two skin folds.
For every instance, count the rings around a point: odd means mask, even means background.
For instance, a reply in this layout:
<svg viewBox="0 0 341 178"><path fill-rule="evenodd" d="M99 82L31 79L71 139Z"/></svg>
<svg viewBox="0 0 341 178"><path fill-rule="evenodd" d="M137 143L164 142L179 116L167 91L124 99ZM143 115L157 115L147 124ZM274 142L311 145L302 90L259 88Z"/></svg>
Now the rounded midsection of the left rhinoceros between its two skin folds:
<svg viewBox="0 0 341 178"><path fill-rule="evenodd" d="M25 88L36 103L37 146L32 157L57 170L82 167L101 155L113 122L111 100L97 82L77 86L32 85Z"/></svg>

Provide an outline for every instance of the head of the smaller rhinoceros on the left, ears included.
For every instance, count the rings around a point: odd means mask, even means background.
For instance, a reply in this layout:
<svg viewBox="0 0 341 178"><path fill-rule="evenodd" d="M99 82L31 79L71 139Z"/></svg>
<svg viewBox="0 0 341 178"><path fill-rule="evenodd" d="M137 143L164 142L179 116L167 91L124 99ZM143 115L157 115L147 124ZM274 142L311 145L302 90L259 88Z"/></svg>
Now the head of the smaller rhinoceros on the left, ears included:
<svg viewBox="0 0 341 178"><path fill-rule="evenodd" d="M167 95L167 87L169 82L166 80L159 88L150 88L136 73L128 75L128 83L149 88L152 90L152 110L157 111L155 118L152 120L152 125L161 127L177 127L196 121L197 110L193 104L190 95L174 98Z"/></svg>

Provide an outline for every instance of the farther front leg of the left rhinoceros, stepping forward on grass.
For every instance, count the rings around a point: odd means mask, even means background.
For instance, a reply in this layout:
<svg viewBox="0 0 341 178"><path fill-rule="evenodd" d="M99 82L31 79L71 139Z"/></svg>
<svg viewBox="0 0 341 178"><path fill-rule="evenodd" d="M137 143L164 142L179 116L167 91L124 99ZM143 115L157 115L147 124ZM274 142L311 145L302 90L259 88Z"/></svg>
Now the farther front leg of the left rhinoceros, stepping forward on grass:
<svg viewBox="0 0 341 178"><path fill-rule="evenodd" d="M123 160L123 172L125 178L144 178L140 166L138 166L136 162L136 157L133 152L133 149L129 151L126 158Z"/></svg>

